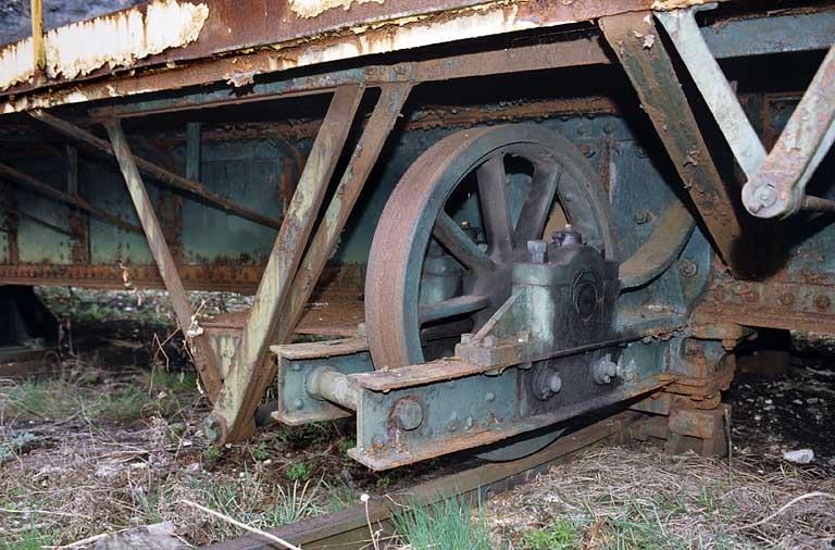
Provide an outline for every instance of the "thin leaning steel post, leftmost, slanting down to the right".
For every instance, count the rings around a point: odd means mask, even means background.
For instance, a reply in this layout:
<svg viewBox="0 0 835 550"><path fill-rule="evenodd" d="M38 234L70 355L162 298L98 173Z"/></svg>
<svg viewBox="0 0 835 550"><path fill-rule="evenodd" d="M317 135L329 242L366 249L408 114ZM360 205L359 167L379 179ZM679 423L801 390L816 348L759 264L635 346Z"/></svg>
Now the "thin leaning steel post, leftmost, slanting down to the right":
<svg viewBox="0 0 835 550"><path fill-rule="evenodd" d="M134 202L139 222L142 225L142 229L145 229L148 246L151 249L162 280L165 284L165 289L169 291L172 304L174 305L179 328L183 330L186 342L189 343L189 350L194 355L195 365L200 374L200 378L203 380L209 399L215 402L223 382L215 366L214 351L194 316L188 295L177 272L174 258L171 255L169 246L165 242L160 221L157 218L151 200L148 197L148 191L139 175L139 168L136 166L130 147L122 130L122 124L119 120L114 120L104 123L104 127L108 130L113 153L119 161L125 184L127 184L130 200Z"/></svg>

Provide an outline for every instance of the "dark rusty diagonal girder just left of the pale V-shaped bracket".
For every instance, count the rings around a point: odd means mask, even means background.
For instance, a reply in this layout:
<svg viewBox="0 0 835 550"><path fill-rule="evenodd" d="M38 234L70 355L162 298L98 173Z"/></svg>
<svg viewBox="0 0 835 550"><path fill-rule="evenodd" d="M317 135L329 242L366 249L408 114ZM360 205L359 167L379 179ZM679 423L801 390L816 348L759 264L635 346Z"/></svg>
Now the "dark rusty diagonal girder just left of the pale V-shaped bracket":
<svg viewBox="0 0 835 550"><path fill-rule="evenodd" d="M661 40L651 12L600 20L603 35L616 53L699 210L722 259L735 274L745 274L740 205L711 158L696 117ZM651 38L649 38L651 37ZM736 198L738 202L738 197Z"/></svg>

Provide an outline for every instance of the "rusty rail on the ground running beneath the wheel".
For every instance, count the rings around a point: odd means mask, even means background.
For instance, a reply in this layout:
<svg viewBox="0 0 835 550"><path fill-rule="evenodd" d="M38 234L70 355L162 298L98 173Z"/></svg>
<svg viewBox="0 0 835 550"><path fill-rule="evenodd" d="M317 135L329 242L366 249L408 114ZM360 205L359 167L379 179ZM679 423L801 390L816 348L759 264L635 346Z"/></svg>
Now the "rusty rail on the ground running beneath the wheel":
<svg viewBox="0 0 835 550"><path fill-rule="evenodd" d="M479 497L490 498L526 483L556 461L587 447L602 441L623 440L631 430L637 428L643 417L632 412L615 414L566 434L528 457L508 462L481 463L391 495L373 497L367 504L358 503L339 512L285 525L269 533L304 550L371 548L374 545L369 525L373 526L378 543L390 539L394 534L391 516L399 505L432 504L453 497L473 501ZM256 550L281 547L262 536L250 534L204 548Z"/></svg>

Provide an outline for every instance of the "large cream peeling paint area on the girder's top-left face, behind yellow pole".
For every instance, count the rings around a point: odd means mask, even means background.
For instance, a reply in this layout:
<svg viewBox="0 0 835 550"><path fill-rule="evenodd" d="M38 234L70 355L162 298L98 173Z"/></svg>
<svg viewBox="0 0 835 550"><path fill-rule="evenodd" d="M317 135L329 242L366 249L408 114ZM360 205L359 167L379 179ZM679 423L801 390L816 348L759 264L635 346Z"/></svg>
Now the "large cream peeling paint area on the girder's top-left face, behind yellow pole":
<svg viewBox="0 0 835 550"><path fill-rule="evenodd" d="M205 4L157 0L138 9L75 23L46 35L47 76L75 78L97 68L130 66L136 60L197 40ZM35 75L32 38L0 50L0 90Z"/></svg>

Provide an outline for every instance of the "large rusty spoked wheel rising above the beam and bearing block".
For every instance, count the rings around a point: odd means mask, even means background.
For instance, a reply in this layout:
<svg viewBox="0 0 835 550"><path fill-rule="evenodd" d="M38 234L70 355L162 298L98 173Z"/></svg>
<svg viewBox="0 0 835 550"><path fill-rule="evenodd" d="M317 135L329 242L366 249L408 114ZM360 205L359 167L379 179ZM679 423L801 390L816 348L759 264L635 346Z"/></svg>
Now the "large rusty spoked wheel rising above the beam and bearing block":
<svg viewBox="0 0 835 550"><path fill-rule="evenodd" d="M553 132L516 124L438 141L402 176L374 234L365 323L375 367L451 354L431 350L427 334L477 330L510 297L527 241L551 225L571 223L615 258L611 220L594 168Z"/></svg>

